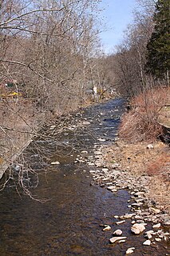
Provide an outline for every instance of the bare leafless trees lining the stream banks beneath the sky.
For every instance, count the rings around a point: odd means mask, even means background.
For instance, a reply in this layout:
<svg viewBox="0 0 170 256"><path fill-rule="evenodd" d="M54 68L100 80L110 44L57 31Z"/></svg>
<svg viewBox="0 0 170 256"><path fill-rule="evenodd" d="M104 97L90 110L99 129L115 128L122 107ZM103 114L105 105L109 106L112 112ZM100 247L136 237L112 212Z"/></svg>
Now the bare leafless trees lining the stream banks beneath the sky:
<svg viewBox="0 0 170 256"><path fill-rule="evenodd" d="M117 90L133 97L167 86L146 74L153 0L138 0L125 40L103 54L99 0L0 1L0 163L6 168L45 122ZM145 101L147 102L147 100ZM147 106L145 106L147 107Z"/></svg>

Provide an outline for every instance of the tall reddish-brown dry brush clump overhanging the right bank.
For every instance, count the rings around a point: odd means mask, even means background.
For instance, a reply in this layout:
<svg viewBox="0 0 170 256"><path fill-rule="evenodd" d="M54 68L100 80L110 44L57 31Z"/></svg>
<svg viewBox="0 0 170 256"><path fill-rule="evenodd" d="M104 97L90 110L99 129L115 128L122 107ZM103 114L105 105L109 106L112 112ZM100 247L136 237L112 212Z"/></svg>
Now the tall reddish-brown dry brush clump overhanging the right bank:
<svg viewBox="0 0 170 256"><path fill-rule="evenodd" d="M161 133L160 110L170 102L170 89L149 90L133 98L132 110L126 113L120 126L120 137L128 142L153 141Z"/></svg>

